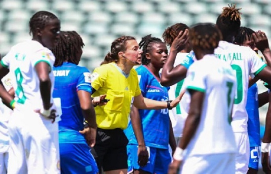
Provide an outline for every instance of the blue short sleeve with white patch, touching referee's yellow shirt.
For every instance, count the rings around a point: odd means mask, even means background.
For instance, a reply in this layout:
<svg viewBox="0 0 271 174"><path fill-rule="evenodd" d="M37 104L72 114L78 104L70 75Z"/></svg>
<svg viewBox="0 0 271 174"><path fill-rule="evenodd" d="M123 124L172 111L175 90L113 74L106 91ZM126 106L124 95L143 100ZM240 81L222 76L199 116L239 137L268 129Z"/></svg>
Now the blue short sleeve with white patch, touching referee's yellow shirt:
<svg viewBox="0 0 271 174"><path fill-rule="evenodd" d="M80 72L76 87L77 87L77 91L82 90L82 91L86 91L92 94L91 74L87 69L82 70Z"/></svg>

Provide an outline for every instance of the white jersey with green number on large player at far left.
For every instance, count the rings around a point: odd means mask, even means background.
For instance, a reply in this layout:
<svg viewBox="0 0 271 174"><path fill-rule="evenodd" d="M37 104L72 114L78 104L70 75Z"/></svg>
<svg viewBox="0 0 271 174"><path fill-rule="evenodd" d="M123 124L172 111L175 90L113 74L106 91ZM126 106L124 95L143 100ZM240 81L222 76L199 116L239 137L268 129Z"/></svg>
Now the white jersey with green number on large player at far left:
<svg viewBox="0 0 271 174"><path fill-rule="evenodd" d="M39 90L39 78L35 66L46 62L50 66L51 103L54 89L52 67L55 61L53 53L38 41L29 40L16 44L1 60L3 67L9 69L15 90L15 109L40 109L43 107Z"/></svg>

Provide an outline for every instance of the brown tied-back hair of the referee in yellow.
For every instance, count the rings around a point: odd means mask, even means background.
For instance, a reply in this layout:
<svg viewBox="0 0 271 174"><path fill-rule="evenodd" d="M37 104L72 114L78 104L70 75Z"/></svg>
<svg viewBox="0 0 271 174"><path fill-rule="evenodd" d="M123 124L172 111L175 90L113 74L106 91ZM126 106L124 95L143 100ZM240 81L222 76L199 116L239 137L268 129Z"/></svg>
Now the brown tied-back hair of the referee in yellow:
<svg viewBox="0 0 271 174"><path fill-rule="evenodd" d="M101 65L109 64L111 62L117 62L119 60L118 53L120 51L123 51L123 52L126 51L127 40L135 40L135 37L123 35L115 39L111 44L110 52L107 53Z"/></svg>

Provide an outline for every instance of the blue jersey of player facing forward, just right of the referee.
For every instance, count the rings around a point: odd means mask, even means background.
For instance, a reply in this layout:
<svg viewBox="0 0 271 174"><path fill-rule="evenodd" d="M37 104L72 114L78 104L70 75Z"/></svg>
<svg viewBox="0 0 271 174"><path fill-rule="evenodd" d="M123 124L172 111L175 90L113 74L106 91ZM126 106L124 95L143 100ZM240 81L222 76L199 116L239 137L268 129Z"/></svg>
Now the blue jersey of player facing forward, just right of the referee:
<svg viewBox="0 0 271 174"><path fill-rule="evenodd" d="M139 86L143 97L167 101L169 87L160 85L160 80L147 68L140 66L136 69L139 77ZM168 109L145 110L139 109L142 120L142 129L146 146L168 148L169 143L169 115ZM125 131L129 144L137 144L131 121Z"/></svg>

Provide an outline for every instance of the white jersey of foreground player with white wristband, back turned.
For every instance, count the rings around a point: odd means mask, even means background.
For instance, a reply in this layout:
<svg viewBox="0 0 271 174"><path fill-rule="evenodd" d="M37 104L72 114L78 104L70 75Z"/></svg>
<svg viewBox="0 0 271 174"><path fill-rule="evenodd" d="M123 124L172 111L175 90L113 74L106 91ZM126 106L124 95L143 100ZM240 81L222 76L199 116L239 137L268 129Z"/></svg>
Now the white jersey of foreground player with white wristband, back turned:
<svg viewBox="0 0 271 174"><path fill-rule="evenodd" d="M234 153L236 144L230 124L236 77L231 66L214 55L205 55L188 70L187 91L204 92L200 122L187 154Z"/></svg>

